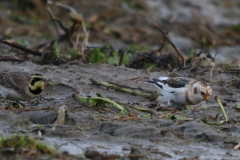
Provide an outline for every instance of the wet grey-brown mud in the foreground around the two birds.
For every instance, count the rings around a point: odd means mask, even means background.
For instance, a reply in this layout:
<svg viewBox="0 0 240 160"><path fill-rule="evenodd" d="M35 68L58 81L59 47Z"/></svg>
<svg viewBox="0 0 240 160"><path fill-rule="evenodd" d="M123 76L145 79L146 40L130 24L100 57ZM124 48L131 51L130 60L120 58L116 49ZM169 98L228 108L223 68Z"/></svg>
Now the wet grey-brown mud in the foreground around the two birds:
<svg viewBox="0 0 240 160"><path fill-rule="evenodd" d="M1 63L1 72L11 67L11 71L28 71L42 73L47 78L53 78L64 84L74 86L79 91L79 96L94 96L100 93L113 101L130 103L123 105L128 108L129 114L136 114L141 120L123 121L117 119L120 110L110 107L108 109L115 113L104 110L103 106L89 107L79 104L72 98L74 90L66 86L46 87L41 98L28 102L26 107L32 109L47 108L47 110L21 111L6 110L6 104L2 104L1 111L1 133L4 134L30 134L38 136L41 131L45 141L59 149L68 151L70 154L82 154L85 150L99 151L103 155L119 155L120 157L136 156L140 159L238 159L239 151L233 150L238 143L240 126L239 112L232 107L237 102L226 102L223 99L229 97L224 88L218 82L210 82L213 95L203 109L196 112L197 119L190 121L171 120L161 115L170 113L166 110L167 100L159 97L158 105L162 108L154 111L152 117L142 117L145 113L131 109L133 104L148 108L155 101L150 101L142 96L133 96L123 92L104 89L92 85L89 78L100 81L119 81L126 78L138 76L158 77L166 76L166 73L146 73L144 70L129 69L126 67L113 66L111 64L83 64L79 62L64 64L61 66L39 66L31 62L24 63ZM217 77L215 77L217 78ZM73 80L69 83L69 80ZM197 77L196 79L201 79ZM147 84L136 83L132 87L142 87L154 90ZM233 89L234 98L239 99L238 89ZM229 123L223 125L208 125L201 121L204 117L223 118L214 97L226 103L225 110L229 117ZM132 104L132 105L131 105ZM66 105L68 107L67 125L57 126L53 130L56 120L57 108ZM164 109L165 108L165 109ZM191 111L184 110L175 113L192 118ZM212 118L213 119L213 118ZM216 122L216 120L210 121ZM36 124L43 124L36 127ZM136 150L130 154L131 150Z"/></svg>

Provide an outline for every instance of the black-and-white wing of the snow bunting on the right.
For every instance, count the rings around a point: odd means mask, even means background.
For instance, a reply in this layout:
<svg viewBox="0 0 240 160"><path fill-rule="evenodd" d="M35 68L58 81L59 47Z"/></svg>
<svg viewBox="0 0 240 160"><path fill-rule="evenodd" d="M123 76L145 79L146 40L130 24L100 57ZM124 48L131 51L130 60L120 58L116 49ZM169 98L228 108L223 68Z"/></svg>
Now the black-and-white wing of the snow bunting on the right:
<svg viewBox="0 0 240 160"><path fill-rule="evenodd" d="M162 80L162 78L153 78L152 81L148 81L149 83L154 83L159 88L163 89L166 92L174 93L176 90L184 89L192 79L177 77L177 78L169 78Z"/></svg>

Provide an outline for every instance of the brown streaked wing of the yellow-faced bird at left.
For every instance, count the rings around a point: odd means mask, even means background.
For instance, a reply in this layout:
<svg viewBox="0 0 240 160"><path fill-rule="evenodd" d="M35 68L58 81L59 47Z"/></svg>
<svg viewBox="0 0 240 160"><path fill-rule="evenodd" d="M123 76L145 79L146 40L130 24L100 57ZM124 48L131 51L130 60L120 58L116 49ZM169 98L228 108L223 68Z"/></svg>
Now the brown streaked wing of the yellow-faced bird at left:
<svg viewBox="0 0 240 160"><path fill-rule="evenodd" d="M0 85L19 90L27 85L28 77L26 72L0 73Z"/></svg>

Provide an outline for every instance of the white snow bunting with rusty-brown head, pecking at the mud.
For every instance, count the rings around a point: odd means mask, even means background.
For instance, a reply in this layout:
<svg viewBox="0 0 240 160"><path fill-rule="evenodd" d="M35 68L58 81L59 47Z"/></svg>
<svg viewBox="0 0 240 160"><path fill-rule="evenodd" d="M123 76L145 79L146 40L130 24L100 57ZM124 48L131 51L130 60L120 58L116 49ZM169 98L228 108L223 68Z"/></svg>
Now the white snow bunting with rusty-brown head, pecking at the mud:
<svg viewBox="0 0 240 160"><path fill-rule="evenodd" d="M182 105L196 105L208 101L212 94L209 84L191 78L159 77L147 83L154 84L168 98L168 105L171 105L171 101Z"/></svg>

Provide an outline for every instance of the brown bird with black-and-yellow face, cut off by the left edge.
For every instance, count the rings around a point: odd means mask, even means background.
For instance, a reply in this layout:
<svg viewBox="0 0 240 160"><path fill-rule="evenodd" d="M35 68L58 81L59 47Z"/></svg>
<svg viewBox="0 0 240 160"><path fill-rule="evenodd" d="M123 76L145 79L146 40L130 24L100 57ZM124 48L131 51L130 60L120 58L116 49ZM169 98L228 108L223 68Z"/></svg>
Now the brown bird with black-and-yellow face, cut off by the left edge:
<svg viewBox="0 0 240 160"><path fill-rule="evenodd" d="M45 77L28 72L0 73L0 94L14 101L29 101L40 96Z"/></svg>

